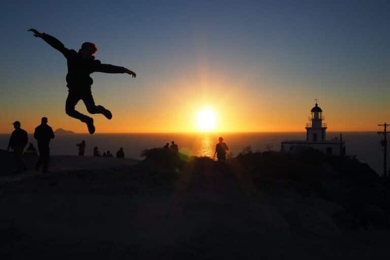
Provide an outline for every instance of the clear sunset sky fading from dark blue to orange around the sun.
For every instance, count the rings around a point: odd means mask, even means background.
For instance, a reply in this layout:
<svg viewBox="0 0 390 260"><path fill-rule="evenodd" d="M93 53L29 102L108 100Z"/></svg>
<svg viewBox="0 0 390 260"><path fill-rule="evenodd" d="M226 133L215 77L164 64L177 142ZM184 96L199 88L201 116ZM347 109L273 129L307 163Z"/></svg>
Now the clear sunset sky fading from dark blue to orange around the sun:
<svg viewBox="0 0 390 260"><path fill-rule="evenodd" d="M96 133L193 132L204 107L217 132L305 131L314 98L330 131L390 121L386 1L7 1L0 8L0 133L87 132L65 114L66 59L26 30L137 73L93 73ZM278 3L275 3L278 2ZM85 112L80 102L76 107Z"/></svg>

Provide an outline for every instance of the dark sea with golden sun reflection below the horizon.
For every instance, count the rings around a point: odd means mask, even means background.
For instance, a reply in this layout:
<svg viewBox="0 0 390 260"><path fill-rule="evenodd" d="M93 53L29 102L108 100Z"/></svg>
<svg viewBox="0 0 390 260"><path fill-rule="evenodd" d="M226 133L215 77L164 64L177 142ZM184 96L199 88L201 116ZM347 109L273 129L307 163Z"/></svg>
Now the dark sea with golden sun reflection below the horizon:
<svg viewBox="0 0 390 260"><path fill-rule="evenodd" d="M199 133L199 134L74 134L58 135L50 143L51 155L77 155L77 143L86 142L85 155L92 155L94 146L101 154L110 151L115 155L123 147L125 157L142 159L141 153L145 149L163 147L166 143L175 143L179 151L187 155L213 157L218 138L223 137L229 147L229 154L237 156L245 147L251 146L252 151L280 151L280 143L285 140L305 140L306 133ZM339 138L340 133L327 133L327 139ZM0 135L0 147L7 148L10 134ZM29 142L37 142L29 135ZM376 132L345 132L346 154L355 156L367 163L378 174L383 173L383 150L380 145L381 136Z"/></svg>

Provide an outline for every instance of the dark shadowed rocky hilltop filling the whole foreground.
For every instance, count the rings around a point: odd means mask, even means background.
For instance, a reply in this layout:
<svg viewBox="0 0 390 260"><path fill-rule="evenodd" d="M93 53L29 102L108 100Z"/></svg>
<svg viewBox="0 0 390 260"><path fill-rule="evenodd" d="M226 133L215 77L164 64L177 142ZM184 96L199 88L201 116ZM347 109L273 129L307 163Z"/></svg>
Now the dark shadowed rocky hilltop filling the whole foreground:
<svg viewBox="0 0 390 260"><path fill-rule="evenodd" d="M2 259L387 259L384 187L348 158L138 165L0 182ZM69 163L67 163L69 164Z"/></svg>

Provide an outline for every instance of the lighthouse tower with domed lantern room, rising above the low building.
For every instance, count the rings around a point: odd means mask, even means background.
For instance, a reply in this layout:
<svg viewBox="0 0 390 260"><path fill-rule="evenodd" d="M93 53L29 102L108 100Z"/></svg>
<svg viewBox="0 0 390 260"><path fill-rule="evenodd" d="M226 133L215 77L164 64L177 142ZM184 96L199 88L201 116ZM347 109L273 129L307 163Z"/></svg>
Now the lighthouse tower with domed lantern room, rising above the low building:
<svg viewBox="0 0 390 260"><path fill-rule="evenodd" d="M327 123L322 122L322 109L318 107L317 100L315 106L311 109L309 122L306 123L306 141L324 142L326 140Z"/></svg>

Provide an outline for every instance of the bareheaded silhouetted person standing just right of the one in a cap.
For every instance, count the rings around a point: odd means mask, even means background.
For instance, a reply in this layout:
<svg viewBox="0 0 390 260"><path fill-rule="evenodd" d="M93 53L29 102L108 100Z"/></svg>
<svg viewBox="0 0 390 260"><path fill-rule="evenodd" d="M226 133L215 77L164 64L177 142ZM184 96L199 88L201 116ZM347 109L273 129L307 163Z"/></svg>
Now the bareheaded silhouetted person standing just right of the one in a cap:
<svg viewBox="0 0 390 260"><path fill-rule="evenodd" d="M39 171L42 165L43 172L48 171L48 163L50 158L49 143L54 139L53 129L47 124L47 117L42 117L41 124L35 128L34 138L38 141L39 157L35 170Z"/></svg>

